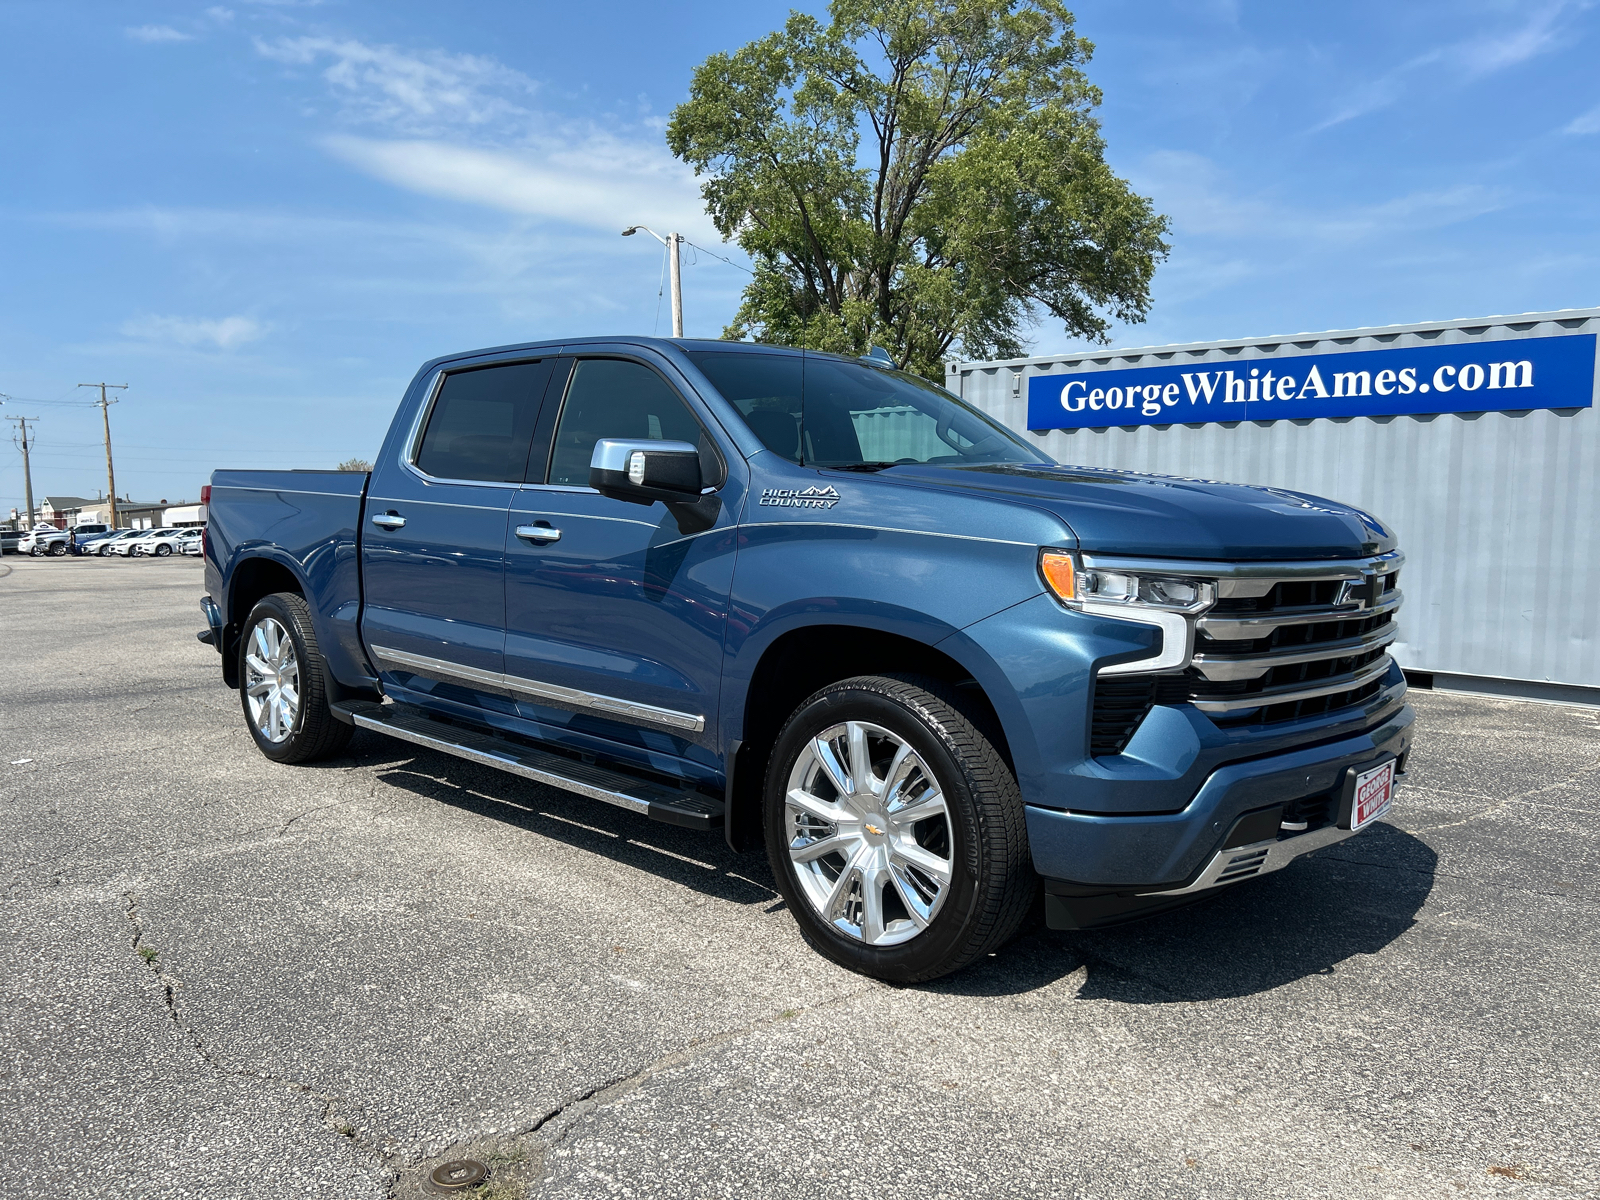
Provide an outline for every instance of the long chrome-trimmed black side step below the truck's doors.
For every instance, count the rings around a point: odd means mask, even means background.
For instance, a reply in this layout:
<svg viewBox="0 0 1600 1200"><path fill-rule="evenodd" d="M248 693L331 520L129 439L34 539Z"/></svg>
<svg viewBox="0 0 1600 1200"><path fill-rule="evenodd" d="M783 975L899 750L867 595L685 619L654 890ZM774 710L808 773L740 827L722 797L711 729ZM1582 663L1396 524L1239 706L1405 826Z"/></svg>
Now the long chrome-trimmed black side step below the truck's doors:
<svg viewBox="0 0 1600 1200"><path fill-rule="evenodd" d="M722 829L723 805L715 797L574 762L558 754L534 750L486 731L446 725L410 704L346 701L330 707L358 730L376 730L400 741L426 746L430 750L442 750L472 763L520 774L523 779L578 792L590 800L630 808L654 821L666 821L669 826L702 830Z"/></svg>

